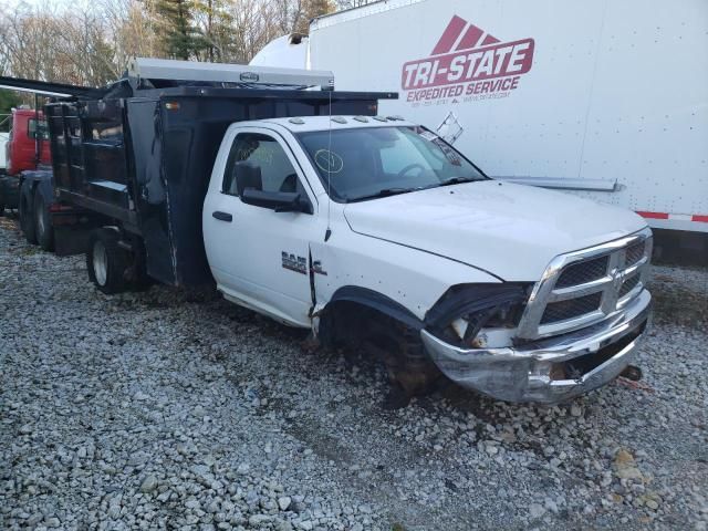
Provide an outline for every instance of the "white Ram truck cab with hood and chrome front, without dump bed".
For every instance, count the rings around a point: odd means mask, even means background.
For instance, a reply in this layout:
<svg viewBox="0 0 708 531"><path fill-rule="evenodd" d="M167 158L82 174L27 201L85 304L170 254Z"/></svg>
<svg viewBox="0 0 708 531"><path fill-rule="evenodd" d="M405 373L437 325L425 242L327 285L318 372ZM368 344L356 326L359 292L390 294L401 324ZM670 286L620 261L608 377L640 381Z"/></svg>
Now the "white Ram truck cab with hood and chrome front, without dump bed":
<svg viewBox="0 0 708 531"><path fill-rule="evenodd" d="M649 315L639 216L490 179L395 117L233 124L202 230L228 300L397 351L408 391L561 402L621 374Z"/></svg>

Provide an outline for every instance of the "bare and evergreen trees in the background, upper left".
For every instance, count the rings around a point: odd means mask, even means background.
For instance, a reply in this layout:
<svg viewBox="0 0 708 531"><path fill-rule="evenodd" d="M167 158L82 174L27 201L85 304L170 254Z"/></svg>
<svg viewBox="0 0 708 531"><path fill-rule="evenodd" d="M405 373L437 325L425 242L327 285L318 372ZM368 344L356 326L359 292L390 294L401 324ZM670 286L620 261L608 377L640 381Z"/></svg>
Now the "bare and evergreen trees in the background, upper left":
<svg viewBox="0 0 708 531"><path fill-rule="evenodd" d="M0 72L101 86L118 79L133 56L248 63L273 39L308 33L311 19L365 2L22 1L0 10Z"/></svg>

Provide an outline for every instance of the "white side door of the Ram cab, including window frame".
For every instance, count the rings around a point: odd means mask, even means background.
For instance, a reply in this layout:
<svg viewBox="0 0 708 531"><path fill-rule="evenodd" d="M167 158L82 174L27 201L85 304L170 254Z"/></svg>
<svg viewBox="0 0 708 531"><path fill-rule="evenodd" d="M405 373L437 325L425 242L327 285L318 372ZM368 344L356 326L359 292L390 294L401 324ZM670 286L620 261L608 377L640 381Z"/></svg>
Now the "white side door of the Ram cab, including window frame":
<svg viewBox="0 0 708 531"><path fill-rule="evenodd" d="M205 204L205 246L214 277L228 299L287 324L309 326L310 241L317 217L243 202L237 179L244 164L260 168L260 183L249 186L300 192L316 212L314 195L283 138L264 128L237 129L221 190Z"/></svg>

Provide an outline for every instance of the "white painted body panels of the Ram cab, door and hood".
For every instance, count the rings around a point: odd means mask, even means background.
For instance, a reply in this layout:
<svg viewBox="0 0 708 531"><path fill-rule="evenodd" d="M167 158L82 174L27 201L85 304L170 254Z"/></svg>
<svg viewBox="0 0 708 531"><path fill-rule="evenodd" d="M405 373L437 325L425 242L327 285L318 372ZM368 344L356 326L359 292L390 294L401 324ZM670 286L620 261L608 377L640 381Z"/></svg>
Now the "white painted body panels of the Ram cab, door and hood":
<svg viewBox="0 0 708 531"><path fill-rule="evenodd" d="M309 327L309 274L282 267L281 253L312 254L327 273L314 274L322 308L342 287L382 293L423 319L452 285L532 282L560 253L634 232L646 223L624 209L540 188L471 183L327 208L325 189L293 132L412 125L343 122L327 116L241 122L227 131L204 206L204 240L227 299L281 322ZM220 191L228 153L239 132L277 138L296 168L314 214L275 212ZM212 217L231 214L232 222ZM330 220L327 221L327 210ZM326 228L332 236L324 241Z"/></svg>

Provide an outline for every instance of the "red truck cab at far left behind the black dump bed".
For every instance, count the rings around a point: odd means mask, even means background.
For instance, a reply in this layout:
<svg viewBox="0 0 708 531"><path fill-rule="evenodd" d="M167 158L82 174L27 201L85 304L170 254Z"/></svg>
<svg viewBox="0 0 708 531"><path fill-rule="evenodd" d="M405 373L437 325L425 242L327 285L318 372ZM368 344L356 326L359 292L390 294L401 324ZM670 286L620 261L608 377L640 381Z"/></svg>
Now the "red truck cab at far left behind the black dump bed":
<svg viewBox="0 0 708 531"><path fill-rule="evenodd" d="M37 169L38 145L39 164L51 164L44 113L31 108L13 108L12 129L6 146L8 175Z"/></svg>

